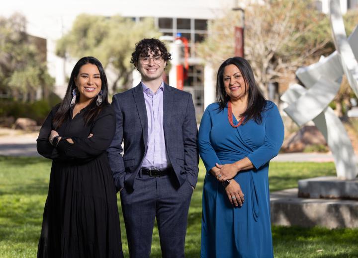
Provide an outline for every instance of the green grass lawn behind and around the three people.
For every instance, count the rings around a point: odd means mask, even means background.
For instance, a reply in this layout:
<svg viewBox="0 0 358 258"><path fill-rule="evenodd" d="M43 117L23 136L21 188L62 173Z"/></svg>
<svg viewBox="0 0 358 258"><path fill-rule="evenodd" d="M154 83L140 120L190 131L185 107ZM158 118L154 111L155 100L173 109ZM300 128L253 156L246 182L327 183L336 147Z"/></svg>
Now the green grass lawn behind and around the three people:
<svg viewBox="0 0 358 258"><path fill-rule="evenodd" d="M50 161L44 158L0 157L0 258L36 257L50 166ZM187 258L199 257L204 173L200 163L199 181L193 193L188 217L185 245ZM269 170L270 190L294 188L299 179L326 175L335 175L333 163L272 162ZM121 212L120 217L123 251L128 257ZM272 237L276 258L358 257L358 229L273 226ZM161 257L156 228L151 257Z"/></svg>

